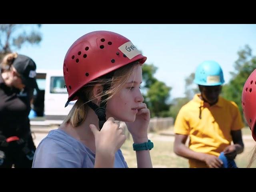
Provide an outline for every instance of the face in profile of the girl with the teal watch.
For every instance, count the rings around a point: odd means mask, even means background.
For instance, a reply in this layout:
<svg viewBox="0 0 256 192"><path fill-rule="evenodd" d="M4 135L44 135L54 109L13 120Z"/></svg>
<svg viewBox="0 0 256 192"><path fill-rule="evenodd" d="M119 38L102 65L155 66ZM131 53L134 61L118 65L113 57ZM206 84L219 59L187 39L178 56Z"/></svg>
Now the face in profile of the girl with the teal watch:
<svg viewBox="0 0 256 192"><path fill-rule="evenodd" d="M142 83L142 68L136 66L132 74L121 88L107 102L106 117L113 117L117 121L134 122L137 108L144 98L140 92L140 84Z"/></svg>

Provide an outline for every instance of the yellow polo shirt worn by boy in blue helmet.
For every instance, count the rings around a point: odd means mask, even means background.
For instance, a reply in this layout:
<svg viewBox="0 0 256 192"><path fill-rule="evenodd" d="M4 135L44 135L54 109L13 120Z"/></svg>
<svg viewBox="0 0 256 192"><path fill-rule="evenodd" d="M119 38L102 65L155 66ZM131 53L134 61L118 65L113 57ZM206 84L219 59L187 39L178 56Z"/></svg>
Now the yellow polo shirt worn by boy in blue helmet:
<svg viewBox="0 0 256 192"><path fill-rule="evenodd" d="M234 102L221 96L213 106L199 96L200 94L196 94L182 106L174 124L174 132L189 135L191 150L219 156L232 141L231 130L244 127L241 115ZM207 167L204 162L194 159L190 159L189 164L191 168Z"/></svg>

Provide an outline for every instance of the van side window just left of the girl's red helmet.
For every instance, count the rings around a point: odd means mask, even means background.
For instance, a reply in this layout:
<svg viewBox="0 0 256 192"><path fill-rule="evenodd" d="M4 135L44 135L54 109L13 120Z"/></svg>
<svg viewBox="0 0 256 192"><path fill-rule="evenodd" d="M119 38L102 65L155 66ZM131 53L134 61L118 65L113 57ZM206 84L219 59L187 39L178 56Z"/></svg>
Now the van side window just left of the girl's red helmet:
<svg viewBox="0 0 256 192"><path fill-rule="evenodd" d="M50 81L50 93L67 93L64 88L65 81L63 76L52 76Z"/></svg>

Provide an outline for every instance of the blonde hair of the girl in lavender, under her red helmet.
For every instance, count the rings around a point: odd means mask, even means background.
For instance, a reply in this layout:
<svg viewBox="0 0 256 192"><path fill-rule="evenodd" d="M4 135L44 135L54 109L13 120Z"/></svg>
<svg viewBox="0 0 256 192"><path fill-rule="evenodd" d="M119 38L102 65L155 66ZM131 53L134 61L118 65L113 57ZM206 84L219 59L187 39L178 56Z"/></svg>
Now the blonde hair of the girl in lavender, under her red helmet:
<svg viewBox="0 0 256 192"><path fill-rule="evenodd" d="M107 101L110 98L112 98L112 96L116 94L116 92L118 92L124 86L128 78L132 74L132 71L138 65L139 62L130 63L126 66L123 66L115 70L114 76L112 78L106 78L106 76L102 76L81 88L79 92L80 95L83 96L83 98L78 98L78 100L70 110L68 116L66 116L64 123L70 123L73 127L79 126L82 122L84 122L86 114L89 109L89 106L86 103L94 99L100 99L104 95L108 95L108 98L106 98L104 101ZM104 91L93 98L92 90L94 86L97 84L111 85L111 87L109 90ZM86 102L84 102L85 100Z"/></svg>

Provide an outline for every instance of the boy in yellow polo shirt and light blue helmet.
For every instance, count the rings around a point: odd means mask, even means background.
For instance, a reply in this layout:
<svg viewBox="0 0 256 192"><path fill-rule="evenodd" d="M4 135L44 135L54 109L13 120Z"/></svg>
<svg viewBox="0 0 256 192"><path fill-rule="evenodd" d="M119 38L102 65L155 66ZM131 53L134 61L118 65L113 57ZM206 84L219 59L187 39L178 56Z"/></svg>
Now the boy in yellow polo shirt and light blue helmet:
<svg viewBox="0 0 256 192"><path fill-rule="evenodd" d="M194 82L201 94L196 94L178 113L174 152L188 158L190 168L220 168L223 164L218 158L220 152L230 160L243 152L244 124L238 106L219 96L224 78L217 62L200 64ZM185 145L188 137L189 147Z"/></svg>

